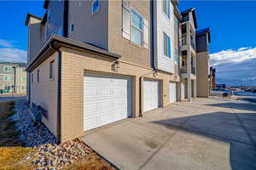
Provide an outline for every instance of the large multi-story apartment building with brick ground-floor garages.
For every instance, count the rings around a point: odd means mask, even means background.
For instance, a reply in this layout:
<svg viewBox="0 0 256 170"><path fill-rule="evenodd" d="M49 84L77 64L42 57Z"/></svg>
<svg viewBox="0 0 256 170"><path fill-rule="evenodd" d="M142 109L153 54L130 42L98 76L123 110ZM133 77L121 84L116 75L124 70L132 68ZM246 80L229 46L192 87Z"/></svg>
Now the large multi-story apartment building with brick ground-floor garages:
<svg viewBox="0 0 256 170"><path fill-rule="evenodd" d="M27 15L28 99L61 142L196 96L195 9L177 3L45 0Z"/></svg>

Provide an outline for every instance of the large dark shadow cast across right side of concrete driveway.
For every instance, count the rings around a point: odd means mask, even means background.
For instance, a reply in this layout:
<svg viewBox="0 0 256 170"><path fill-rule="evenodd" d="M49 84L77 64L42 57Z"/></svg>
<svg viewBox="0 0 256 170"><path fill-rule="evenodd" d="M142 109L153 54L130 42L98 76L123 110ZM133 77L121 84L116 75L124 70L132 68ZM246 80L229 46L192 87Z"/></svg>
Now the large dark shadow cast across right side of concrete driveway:
<svg viewBox="0 0 256 170"><path fill-rule="evenodd" d="M227 104L213 105L227 107ZM238 107L238 105L240 104L234 104L232 107ZM241 106L238 109L241 109ZM246 119L239 118L234 113L219 111L203 115L172 118L154 123L171 129L181 128L182 131L229 143L230 165L233 170L256 169L256 138L254 138L256 137L256 120L248 120L248 116L253 115L254 117L256 113L242 113L242 115L247 116ZM180 122L186 120L188 121L181 127ZM248 123L250 127L247 127ZM212 150L212 148L209 148L209 150ZM221 152L222 150L219 151Z"/></svg>

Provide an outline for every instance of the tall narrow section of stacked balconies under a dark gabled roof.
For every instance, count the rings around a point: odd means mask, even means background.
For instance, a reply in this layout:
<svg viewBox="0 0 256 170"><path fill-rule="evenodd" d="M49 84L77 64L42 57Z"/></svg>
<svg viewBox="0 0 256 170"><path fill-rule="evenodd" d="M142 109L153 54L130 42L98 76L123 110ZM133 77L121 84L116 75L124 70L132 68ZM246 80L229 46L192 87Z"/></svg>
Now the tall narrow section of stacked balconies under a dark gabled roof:
<svg viewBox="0 0 256 170"><path fill-rule="evenodd" d="M181 99L191 101L196 97L195 8L189 8L181 14Z"/></svg>

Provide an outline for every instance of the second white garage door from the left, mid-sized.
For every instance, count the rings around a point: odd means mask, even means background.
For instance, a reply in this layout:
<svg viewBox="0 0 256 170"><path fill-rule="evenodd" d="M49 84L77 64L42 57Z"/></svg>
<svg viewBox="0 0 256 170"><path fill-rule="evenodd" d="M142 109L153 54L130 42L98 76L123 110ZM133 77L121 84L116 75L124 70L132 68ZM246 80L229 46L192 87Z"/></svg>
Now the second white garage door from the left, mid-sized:
<svg viewBox="0 0 256 170"><path fill-rule="evenodd" d="M144 80L143 82L143 111L149 111L159 107L160 82Z"/></svg>

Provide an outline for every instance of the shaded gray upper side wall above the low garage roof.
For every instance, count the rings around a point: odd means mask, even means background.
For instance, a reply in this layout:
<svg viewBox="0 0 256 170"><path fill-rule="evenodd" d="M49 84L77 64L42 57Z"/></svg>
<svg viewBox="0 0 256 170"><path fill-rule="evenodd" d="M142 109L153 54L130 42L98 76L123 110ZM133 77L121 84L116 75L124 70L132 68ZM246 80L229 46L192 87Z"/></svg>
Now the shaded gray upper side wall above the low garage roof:
<svg viewBox="0 0 256 170"><path fill-rule="evenodd" d="M96 14L91 14L91 3L69 1L68 37L108 49L108 1L100 1L100 10ZM70 31L71 24L74 25L73 33Z"/></svg>

